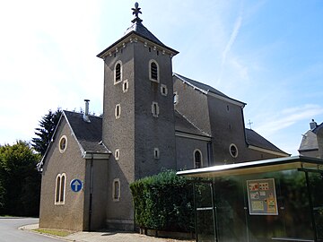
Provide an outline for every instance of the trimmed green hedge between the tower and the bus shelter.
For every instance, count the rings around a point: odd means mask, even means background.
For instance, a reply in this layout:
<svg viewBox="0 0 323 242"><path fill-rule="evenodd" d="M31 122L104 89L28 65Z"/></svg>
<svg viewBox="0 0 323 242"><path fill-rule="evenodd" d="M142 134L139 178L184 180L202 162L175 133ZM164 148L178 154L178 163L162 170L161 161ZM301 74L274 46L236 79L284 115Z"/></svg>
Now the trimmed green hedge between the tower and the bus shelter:
<svg viewBox="0 0 323 242"><path fill-rule="evenodd" d="M194 231L193 187L188 178L166 170L130 185L135 222L141 228Z"/></svg>

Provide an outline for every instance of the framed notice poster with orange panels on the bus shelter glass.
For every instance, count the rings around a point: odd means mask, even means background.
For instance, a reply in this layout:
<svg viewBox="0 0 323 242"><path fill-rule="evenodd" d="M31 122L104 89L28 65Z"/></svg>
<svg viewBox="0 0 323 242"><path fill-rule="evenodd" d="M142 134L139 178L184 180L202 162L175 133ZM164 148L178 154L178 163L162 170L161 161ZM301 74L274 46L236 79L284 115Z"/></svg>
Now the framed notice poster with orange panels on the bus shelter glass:
<svg viewBox="0 0 323 242"><path fill-rule="evenodd" d="M250 215L278 215L274 178L248 180L247 191Z"/></svg>

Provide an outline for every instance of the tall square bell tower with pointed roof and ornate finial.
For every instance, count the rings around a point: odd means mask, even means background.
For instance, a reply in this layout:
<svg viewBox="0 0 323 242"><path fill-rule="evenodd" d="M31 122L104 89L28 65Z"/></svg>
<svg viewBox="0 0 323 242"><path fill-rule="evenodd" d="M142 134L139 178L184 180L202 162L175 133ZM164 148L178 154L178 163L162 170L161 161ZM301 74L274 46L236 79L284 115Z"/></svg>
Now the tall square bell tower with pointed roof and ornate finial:
<svg viewBox="0 0 323 242"><path fill-rule="evenodd" d="M125 35L98 57L104 61L102 141L112 155L108 165L109 228L132 229L129 184L162 169L176 169L172 56L135 19ZM110 194L110 195L109 195Z"/></svg>

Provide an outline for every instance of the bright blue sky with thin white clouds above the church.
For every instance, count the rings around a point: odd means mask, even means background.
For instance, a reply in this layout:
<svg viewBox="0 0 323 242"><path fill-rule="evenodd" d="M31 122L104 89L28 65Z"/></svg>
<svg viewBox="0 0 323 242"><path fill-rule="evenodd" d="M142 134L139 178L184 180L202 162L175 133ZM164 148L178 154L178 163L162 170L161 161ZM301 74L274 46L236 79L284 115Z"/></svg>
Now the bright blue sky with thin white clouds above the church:
<svg viewBox="0 0 323 242"><path fill-rule="evenodd" d="M144 26L179 51L173 72L246 102L249 127L298 155L323 122L322 0L138 1ZM31 141L48 110L102 113L103 61L135 1L0 3L0 144Z"/></svg>

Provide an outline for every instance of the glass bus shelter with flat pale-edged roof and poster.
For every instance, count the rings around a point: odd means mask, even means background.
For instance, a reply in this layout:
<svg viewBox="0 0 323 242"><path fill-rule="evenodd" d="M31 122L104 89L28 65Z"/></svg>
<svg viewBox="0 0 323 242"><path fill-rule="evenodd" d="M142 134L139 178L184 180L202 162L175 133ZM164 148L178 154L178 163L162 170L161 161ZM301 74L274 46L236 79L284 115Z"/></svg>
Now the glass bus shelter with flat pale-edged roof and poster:
<svg viewBox="0 0 323 242"><path fill-rule="evenodd" d="M194 180L196 241L323 241L323 160L296 156L177 174Z"/></svg>

